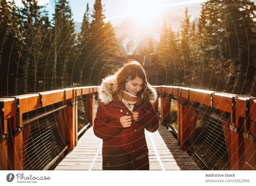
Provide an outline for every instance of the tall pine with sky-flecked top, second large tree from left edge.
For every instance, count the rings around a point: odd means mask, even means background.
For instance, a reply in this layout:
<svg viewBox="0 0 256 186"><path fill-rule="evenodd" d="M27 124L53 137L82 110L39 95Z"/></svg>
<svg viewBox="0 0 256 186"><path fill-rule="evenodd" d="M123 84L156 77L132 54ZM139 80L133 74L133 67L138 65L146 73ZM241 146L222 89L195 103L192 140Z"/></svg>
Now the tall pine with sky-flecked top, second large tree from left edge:
<svg viewBox="0 0 256 186"><path fill-rule="evenodd" d="M44 34L43 23L43 6L39 6L36 0L22 1L23 8L17 12L20 21L18 28L19 38L19 66L21 74L21 85L26 92L35 92L38 90L38 77L36 72L42 71L39 66L44 55L42 49Z"/></svg>

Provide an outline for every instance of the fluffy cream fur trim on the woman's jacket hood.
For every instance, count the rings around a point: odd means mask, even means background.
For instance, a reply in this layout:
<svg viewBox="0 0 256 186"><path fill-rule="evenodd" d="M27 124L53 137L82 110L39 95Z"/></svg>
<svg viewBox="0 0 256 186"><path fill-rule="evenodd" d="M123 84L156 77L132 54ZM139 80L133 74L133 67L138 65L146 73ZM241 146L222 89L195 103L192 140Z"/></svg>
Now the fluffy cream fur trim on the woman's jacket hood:
<svg viewBox="0 0 256 186"><path fill-rule="evenodd" d="M113 100L113 97L111 94L112 86L110 85L110 82L115 81L115 79L116 79L116 75L109 75L106 78L104 78L100 84L100 89L98 91L98 98L101 100L101 102L104 105L108 105ZM156 90L149 83L148 83L146 89L147 89L147 91L151 92L149 101L155 102L157 99Z"/></svg>

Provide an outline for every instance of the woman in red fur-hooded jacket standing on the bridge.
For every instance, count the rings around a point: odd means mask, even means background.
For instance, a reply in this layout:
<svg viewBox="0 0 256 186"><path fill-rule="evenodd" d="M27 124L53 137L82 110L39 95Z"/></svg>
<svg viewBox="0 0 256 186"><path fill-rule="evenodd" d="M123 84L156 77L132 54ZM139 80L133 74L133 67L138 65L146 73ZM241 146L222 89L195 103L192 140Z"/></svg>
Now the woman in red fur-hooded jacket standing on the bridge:
<svg viewBox="0 0 256 186"><path fill-rule="evenodd" d="M102 170L149 170L144 129L155 132L158 128L152 105L156 98L137 61L103 79L93 125L94 134L103 140Z"/></svg>

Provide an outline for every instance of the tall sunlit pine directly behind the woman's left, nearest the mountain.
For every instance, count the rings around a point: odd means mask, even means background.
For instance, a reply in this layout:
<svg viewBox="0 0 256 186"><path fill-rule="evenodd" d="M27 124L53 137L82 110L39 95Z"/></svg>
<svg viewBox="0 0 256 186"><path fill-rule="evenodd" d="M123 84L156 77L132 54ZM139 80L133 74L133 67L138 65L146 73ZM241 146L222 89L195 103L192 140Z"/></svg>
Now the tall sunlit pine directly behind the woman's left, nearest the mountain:
<svg viewBox="0 0 256 186"><path fill-rule="evenodd" d="M87 85L98 85L100 80L106 75L110 74L115 69L111 58L117 55L118 46L116 44L116 36L114 28L110 22L105 23L105 15L101 0L96 0L93 5L92 23L91 23L91 41L90 41L90 55L88 62L90 66L90 73L88 69L84 69L84 77L87 79ZM85 72L86 70L86 72Z"/></svg>

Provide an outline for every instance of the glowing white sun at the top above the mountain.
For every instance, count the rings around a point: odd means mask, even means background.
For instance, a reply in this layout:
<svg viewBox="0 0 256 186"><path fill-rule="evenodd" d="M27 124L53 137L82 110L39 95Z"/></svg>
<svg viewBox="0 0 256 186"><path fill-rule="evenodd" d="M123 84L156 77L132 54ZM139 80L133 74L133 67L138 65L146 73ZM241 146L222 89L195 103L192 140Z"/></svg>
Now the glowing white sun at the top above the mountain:
<svg viewBox="0 0 256 186"><path fill-rule="evenodd" d="M147 24L161 12L162 5L162 0L131 0L128 9L140 24Z"/></svg>

